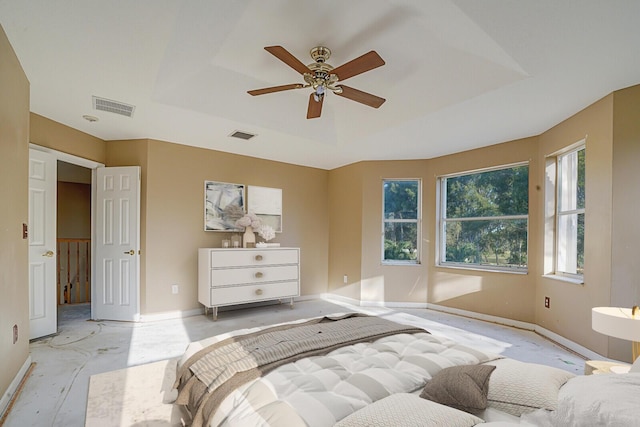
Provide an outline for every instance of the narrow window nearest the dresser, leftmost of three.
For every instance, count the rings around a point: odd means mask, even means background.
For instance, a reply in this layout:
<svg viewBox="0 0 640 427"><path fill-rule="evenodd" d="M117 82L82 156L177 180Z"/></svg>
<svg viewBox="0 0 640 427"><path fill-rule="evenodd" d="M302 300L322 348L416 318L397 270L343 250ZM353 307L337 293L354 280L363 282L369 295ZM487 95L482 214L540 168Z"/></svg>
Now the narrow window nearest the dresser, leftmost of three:
<svg viewBox="0 0 640 427"><path fill-rule="evenodd" d="M385 263L420 262L420 180L382 181L382 238Z"/></svg>

